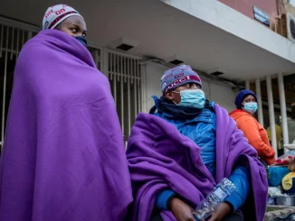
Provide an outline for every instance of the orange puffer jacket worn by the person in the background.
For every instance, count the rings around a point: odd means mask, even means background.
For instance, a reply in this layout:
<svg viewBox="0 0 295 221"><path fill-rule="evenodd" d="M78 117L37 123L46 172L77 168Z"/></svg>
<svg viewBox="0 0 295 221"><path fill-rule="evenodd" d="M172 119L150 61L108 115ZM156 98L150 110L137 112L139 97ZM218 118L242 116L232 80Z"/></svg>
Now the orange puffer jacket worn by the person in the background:
<svg viewBox="0 0 295 221"><path fill-rule="evenodd" d="M275 160L275 152L262 125L243 110L234 110L230 116L236 121L238 128L243 131L249 143L256 149L258 156L267 164L272 164Z"/></svg>

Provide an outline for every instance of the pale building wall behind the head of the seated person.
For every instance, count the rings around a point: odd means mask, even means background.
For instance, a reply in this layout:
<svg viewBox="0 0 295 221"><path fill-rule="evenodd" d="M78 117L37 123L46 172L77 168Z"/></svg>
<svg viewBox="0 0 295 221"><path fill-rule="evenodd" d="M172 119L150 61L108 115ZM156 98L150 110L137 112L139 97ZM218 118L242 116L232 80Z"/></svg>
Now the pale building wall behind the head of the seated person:
<svg viewBox="0 0 295 221"><path fill-rule="evenodd" d="M149 63L146 65L147 71L147 112L149 109L154 106L154 100L151 98L153 95L157 97L161 96L160 89L160 78L164 74L164 71L167 70L167 67L164 67L159 64ZM205 92L205 96L213 100L215 103L223 106L227 111L232 111L234 109L234 98L235 92L232 90L232 87L225 85L224 83L208 81L205 78L202 78L202 87Z"/></svg>

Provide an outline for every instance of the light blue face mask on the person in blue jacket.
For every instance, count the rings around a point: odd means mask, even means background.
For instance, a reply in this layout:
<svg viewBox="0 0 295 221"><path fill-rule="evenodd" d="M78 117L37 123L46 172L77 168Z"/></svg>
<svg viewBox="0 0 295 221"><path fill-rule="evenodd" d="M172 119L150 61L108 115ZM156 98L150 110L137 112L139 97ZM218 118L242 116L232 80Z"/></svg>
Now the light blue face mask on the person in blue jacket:
<svg viewBox="0 0 295 221"><path fill-rule="evenodd" d="M180 92L173 91L180 94L181 101L176 106L189 106L195 108L203 108L205 106L205 94L203 90L192 89L182 90Z"/></svg>

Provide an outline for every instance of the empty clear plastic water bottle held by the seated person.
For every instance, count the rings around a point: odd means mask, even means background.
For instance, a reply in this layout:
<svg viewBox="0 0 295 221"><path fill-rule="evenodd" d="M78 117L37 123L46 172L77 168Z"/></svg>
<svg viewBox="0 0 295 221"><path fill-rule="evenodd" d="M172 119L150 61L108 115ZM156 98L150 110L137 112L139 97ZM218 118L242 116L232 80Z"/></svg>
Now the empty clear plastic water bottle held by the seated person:
<svg viewBox="0 0 295 221"><path fill-rule="evenodd" d="M231 180L224 178L217 184L214 190L202 200L200 205L195 209L195 220L199 221L213 214L216 207L224 202L224 199L230 196L235 189Z"/></svg>

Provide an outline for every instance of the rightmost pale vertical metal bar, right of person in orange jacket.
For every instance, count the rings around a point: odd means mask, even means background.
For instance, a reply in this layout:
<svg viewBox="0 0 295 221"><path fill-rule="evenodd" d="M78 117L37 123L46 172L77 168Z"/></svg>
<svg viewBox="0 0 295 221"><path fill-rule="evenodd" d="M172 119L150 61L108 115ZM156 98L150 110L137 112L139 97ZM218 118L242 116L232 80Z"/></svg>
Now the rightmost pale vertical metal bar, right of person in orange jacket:
<svg viewBox="0 0 295 221"><path fill-rule="evenodd" d="M283 144L289 144L286 97L285 97L284 79L282 78L282 73L278 74L278 84L279 84L280 105L281 105L282 139L283 139ZM284 148L284 152L288 152L288 149Z"/></svg>

